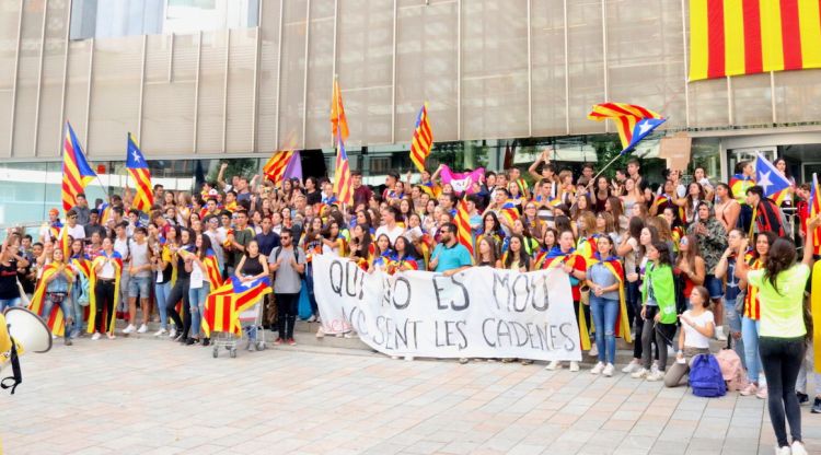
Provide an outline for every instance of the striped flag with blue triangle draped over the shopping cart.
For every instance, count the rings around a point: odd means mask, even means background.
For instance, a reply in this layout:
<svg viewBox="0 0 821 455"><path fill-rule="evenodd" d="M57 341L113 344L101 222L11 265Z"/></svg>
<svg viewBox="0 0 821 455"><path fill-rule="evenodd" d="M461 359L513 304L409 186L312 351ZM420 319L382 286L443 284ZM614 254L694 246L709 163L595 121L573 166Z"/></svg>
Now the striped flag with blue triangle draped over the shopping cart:
<svg viewBox="0 0 821 455"><path fill-rule="evenodd" d="M270 279L257 278L242 281L231 277L224 284L211 291L206 299L203 315L203 330L206 337L212 331L240 334L240 313L252 307L255 303L271 293Z"/></svg>

